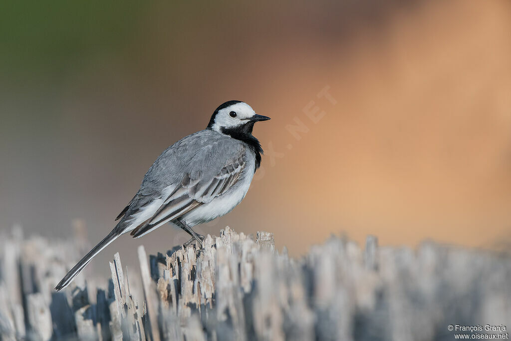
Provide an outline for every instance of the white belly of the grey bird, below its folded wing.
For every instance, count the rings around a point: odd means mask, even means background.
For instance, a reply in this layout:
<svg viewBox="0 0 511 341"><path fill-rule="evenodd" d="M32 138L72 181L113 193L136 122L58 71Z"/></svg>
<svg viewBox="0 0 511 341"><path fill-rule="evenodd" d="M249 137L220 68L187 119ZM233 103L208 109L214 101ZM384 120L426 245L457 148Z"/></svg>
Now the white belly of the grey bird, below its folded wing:
<svg viewBox="0 0 511 341"><path fill-rule="evenodd" d="M247 194L254 175L254 168L255 164L250 162L250 165L247 166L235 187L213 199L211 202L202 204L195 210L183 215L181 219L189 226L195 226L221 217L232 211Z"/></svg>

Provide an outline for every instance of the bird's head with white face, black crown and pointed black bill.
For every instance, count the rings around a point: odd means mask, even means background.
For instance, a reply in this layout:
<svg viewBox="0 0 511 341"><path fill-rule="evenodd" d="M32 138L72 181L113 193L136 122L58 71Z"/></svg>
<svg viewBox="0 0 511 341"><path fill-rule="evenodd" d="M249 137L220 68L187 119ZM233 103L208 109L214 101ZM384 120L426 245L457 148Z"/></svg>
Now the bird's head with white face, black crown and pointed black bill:
<svg viewBox="0 0 511 341"><path fill-rule="evenodd" d="M230 135L251 133L255 122L269 120L269 117L258 115L245 102L228 101L221 104L211 117L207 129Z"/></svg>

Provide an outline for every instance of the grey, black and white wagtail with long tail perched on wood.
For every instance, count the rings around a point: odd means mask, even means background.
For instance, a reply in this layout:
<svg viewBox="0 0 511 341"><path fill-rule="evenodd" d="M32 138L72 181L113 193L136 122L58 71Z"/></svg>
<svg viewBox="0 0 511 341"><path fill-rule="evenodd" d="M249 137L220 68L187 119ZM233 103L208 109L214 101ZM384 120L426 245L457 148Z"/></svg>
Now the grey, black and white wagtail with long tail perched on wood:
<svg viewBox="0 0 511 341"><path fill-rule="evenodd" d="M195 225L227 214L245 197L261 164L263 149L252 135L255 122L269 120L246 103L220 105L206 129L167 148L149 168L140 190L115 219L115 228L96 245L55 290L65 288L103 248L122 234L133 238L171 222L202 245ZM189 242L190 242L189 241Z"/></svg>

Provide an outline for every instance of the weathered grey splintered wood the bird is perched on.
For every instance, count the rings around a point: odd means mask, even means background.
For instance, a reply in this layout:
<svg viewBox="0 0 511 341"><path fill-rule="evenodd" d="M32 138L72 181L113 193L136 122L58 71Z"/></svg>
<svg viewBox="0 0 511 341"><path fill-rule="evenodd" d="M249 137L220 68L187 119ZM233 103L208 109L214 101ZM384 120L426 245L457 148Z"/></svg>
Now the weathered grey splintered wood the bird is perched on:
<svg viewBox="0 0 511 341"><path fill-rule="evenodd" d="M451 324L511 328L509 254L369 236L364 250L332 237L294 259L271 233L227 227L200 250L140 246L129 278L115 254L106 290L87 278L55 292L86 244L0 236L0 340L450 340Z"/></svg>

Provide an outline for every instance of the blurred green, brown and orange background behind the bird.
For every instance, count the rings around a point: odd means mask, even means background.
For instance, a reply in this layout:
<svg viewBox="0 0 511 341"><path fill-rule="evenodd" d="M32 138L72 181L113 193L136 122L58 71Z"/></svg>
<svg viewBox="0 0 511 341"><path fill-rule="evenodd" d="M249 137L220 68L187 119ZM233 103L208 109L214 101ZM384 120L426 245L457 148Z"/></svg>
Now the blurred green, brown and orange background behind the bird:
<svg viewBox="0 0 511 341"><path fill-rule="evenodd" d="M511 245L511 3L0 4L0 229L96 244L155 158L242 100L271 121L245 200L197 226ZM312 112L312 113L311 113ZM95 263L188 237L164 226Z"/></svg>

